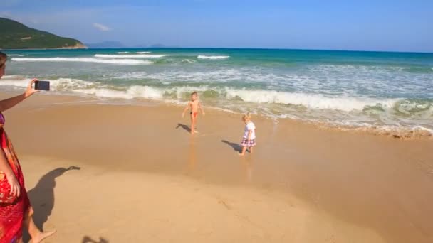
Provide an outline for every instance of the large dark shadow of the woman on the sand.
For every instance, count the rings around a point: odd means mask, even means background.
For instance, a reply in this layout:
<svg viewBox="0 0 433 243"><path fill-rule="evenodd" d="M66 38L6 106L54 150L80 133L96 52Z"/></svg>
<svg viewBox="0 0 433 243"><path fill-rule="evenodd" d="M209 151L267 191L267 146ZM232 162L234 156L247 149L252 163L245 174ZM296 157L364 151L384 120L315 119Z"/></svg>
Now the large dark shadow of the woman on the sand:
<svg viewBox="0 0 433 243"><path fill-rule="evenodd" d="M56 168L53 171L43 175L36 186L28 191L28 198L30 198L31 205L34 210L33 220L39 229L43 230L43 224L48 220L48 217L51 215L51 211L53 211L56 178L63 175L63 173L66 171L79 169L80 167L77 166L71 166L69 168Z"/></svg>

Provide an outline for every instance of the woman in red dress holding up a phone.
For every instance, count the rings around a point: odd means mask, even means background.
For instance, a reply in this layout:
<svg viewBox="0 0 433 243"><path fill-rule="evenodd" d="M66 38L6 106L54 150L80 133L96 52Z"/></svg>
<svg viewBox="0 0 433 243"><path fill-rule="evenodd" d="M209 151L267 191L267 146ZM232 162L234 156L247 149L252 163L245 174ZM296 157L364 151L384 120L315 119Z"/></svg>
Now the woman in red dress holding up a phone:
<svg viewBox="0 0 433 243"><path fill-rule="evenodd" d="M0 78L4 75L7 56L0 52ZM24 176L14 147L4 131L4 117L1 112L11 109L37 90L31 80L26 92L0 101L0 243L22 242L23 227L28 230L32 242L41 242L54 232L41 232L33 222L33 209L24 187Z"/></svg>

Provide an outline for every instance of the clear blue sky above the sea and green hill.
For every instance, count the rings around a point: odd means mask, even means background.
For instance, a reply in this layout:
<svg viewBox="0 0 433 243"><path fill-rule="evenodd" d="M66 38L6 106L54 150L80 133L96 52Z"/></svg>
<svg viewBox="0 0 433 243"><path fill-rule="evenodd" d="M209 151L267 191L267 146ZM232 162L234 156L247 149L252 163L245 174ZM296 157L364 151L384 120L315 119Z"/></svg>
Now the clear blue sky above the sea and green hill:
<svg viewBox="0 0 433 243"><path fill-rule="evenodd" d="M433 53L432 0L0 0L0 16L83 43Z"/></svg>

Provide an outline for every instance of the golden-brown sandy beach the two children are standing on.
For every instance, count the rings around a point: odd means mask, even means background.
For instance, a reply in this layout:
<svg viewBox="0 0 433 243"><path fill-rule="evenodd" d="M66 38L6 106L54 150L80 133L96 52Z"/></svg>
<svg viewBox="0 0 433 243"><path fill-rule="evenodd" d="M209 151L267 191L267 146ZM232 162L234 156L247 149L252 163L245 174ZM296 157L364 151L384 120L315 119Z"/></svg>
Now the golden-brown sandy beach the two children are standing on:
<svg viewBox="0 0 433 243"><path fill-rule="evenodd" d="M1 93L1 99L15 92ZM431 136L35 95L4 112L46 242L432 242ZM70 170L70 168L75 166ZM79 168L79 169L78 169Z"/></svg>

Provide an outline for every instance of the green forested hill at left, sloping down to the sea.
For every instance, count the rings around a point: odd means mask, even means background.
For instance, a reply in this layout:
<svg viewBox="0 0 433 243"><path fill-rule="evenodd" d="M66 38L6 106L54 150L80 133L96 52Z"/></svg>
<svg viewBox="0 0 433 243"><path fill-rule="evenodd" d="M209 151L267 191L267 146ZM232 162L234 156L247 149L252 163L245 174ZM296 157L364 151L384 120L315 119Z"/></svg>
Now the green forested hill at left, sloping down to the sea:
<svg viewBox="0 0 433 243"><path fill-rule="evenodd" d="M0 18L0 49L78 49L86 48L73 38L28 28L9 18Z"/></svg>

